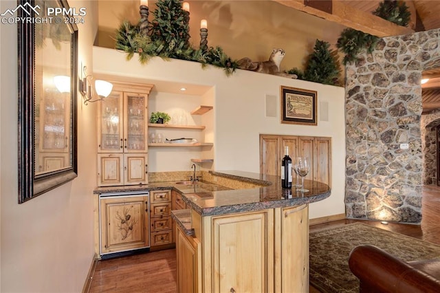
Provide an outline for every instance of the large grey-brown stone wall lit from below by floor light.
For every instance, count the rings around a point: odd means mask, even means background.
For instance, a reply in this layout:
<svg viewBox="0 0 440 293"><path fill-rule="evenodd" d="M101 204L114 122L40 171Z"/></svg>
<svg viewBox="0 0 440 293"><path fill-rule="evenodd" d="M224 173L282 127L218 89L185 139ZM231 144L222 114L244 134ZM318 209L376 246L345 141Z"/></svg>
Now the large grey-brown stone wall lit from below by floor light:
<svg viewBox="0 0 440 293"><path fill-rule="evenodd" d="M440 65L439 32L381 39L346 67L349 218L421 221L420 79ZM400 149L402 143L409 149Z"/></svg>

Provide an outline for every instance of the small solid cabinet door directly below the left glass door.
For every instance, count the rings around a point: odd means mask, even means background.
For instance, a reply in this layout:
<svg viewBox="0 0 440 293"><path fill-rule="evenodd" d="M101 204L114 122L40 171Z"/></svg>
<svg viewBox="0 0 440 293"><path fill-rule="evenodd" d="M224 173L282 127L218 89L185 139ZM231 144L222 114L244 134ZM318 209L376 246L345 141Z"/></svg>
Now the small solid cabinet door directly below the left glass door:
<svg viewBox="0 0 440 293"><path fill-rule="evenodd" d="M98 153L98 185L124 184L122 153Z"/></svg>

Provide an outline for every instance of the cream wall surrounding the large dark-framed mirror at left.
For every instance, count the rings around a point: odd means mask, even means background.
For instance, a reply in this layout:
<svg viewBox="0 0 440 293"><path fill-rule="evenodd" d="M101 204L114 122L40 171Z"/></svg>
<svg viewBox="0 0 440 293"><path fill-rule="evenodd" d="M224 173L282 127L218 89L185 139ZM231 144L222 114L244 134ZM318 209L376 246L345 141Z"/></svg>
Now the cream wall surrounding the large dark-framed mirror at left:
<svg viewBox="0 0 440 293"><path fill-rule="evenodd" d="M91 68L96 3L79 28L79 61ZM0 11L17 1L0 1ZM35 199L18 204L17 25L1 27L0 224L1 292L80 292L94 257L93 190L96 186L94 105L78 95L78 177ZM90 163L92 162L92 163Z"/></svg>

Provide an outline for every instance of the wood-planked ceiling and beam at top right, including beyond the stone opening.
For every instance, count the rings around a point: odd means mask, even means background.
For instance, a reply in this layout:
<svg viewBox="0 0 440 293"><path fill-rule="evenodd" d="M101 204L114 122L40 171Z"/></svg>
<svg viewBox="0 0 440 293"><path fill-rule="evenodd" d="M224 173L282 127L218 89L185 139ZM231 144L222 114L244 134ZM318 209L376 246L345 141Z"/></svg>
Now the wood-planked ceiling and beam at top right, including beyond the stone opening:
<svg viewBox="0 0 440 293"><path fill-rule="evenodd" d="M398 36L440 28L440 0L405 1L411 12L408 28L395 25L372 14L382 0L273 0L290 8L307 12L375 36ZM422 73L429 78L422 85L422 107L427 113L440 109L440 68Z"/></svg>

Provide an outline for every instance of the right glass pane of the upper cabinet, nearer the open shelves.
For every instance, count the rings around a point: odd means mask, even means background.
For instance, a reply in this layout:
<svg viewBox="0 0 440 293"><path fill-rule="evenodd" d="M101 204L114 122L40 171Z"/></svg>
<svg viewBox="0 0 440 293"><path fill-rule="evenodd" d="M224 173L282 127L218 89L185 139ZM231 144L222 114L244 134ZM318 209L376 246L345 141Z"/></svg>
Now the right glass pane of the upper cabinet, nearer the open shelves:
<svg viewBox="0 0 440 293"><path fill-rule="evenodd" d="M127 96L127 143L129 150L145 149L145 96Z"/></svg>

